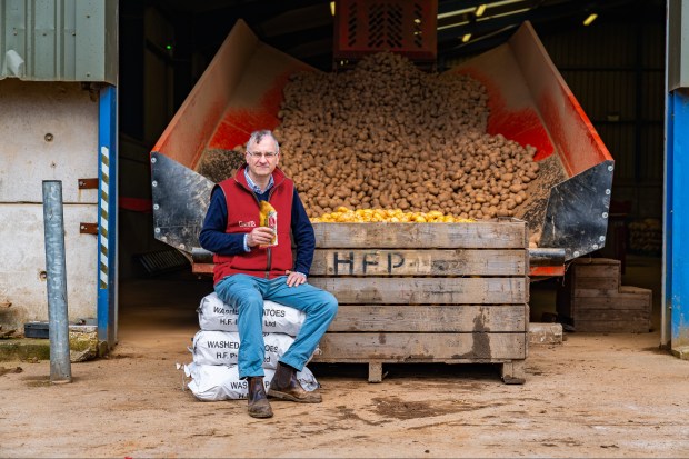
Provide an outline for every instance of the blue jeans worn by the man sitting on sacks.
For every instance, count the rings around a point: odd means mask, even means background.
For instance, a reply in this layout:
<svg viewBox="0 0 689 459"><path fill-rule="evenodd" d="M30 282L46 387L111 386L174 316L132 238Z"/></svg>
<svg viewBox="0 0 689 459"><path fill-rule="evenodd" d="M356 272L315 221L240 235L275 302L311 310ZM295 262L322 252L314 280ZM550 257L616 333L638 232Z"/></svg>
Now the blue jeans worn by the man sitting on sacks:
<svg viewBox="0 0 689 459"><path fill-rule="evenodd" d="M239 309L239 377L264 376L263 300L271 300L306 312L307 318L294 342L280 358L301 371L338 311L338 300L309 283L287 285L287 276L263 279L248 275L228 276L216 285L218 297Z"/></svg>

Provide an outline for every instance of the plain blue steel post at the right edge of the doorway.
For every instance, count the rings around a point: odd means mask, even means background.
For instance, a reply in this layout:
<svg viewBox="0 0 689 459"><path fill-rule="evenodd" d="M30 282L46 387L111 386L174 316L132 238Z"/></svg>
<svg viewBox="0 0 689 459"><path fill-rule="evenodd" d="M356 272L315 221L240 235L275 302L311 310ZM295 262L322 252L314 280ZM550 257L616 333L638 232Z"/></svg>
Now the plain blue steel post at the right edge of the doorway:
<svg viewBox="0 0 689 459"><path fill-rule="evenodd" d="M665 312L670 325L670 347L689 357L689 90L668 94L666 139ZM665 345L665 342L663 342Z"/></svg>

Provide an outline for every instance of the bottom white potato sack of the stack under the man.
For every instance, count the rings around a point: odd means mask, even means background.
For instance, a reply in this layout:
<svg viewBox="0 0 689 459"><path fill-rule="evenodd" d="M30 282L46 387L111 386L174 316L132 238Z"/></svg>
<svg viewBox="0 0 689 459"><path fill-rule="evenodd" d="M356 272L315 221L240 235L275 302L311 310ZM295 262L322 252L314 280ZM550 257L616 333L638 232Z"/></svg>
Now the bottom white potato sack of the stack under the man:
<svg viewBox="0 0 689 459"><path fill-rule="evenodd" d="M180 369L179 365L178 369ZM249 393L248 381L239 379L239 369L236 365L189 363L183 366L183 371L187 378L191 378L187 388L201 401L246 399ZM276 370L264 369L263 371L266 372L263 385L268 390ZM320 387L307 367L297 372L297 379L303 390L309 392Z"/></svg>

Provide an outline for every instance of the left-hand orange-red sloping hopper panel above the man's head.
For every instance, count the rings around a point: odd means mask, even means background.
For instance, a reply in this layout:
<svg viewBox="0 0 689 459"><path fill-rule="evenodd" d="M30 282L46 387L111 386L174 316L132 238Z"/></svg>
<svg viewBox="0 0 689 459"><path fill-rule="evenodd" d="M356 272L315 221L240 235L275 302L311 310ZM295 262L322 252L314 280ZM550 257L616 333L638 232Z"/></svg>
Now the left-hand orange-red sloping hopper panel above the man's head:
<svg viewBox="0 0 689 459"><path fill-rule="evenodd" d="M152 151L193 170L209 149L232 149L278 126L290 74L314 70L262 43L238 21Z"/></svg>

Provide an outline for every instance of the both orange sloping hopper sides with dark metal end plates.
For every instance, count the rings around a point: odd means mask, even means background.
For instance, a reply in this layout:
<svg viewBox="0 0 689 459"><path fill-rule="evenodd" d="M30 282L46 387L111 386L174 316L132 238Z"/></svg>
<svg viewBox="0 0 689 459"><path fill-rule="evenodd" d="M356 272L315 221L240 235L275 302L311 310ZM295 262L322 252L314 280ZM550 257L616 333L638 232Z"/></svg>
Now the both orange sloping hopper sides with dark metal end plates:
<svg viewBox="0 0 689 459"><path fill-rule="evenodd" d="M199 174L204 152L232 150L250 132L273 129L290 74L316 70L261 42L238 21L151 152L156 237L182 251L198 233L214 184ZM481 81L488 132L537 148L555 180L522 214L540 246L572 259L605 245L613 160L552 64L530 23L452 72ZM543 169L543 168L542 168Z"/></svg>

